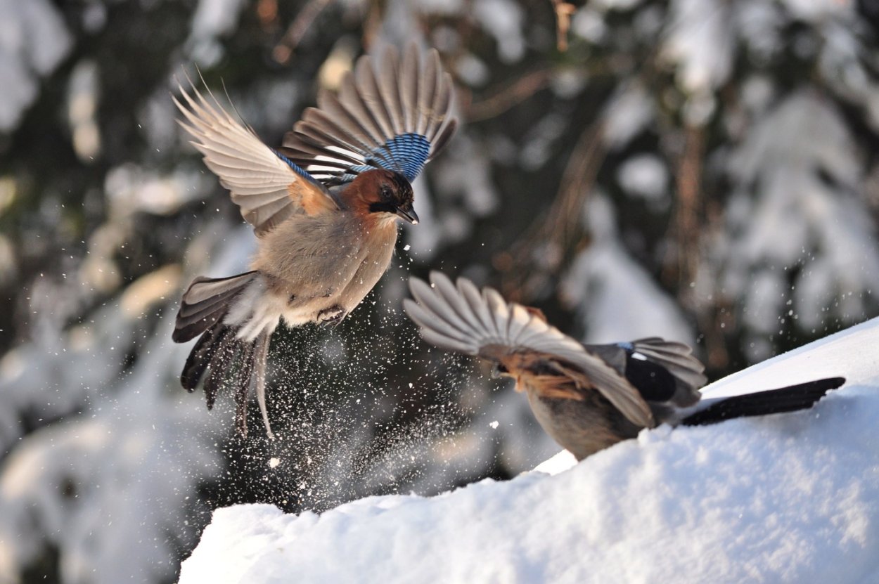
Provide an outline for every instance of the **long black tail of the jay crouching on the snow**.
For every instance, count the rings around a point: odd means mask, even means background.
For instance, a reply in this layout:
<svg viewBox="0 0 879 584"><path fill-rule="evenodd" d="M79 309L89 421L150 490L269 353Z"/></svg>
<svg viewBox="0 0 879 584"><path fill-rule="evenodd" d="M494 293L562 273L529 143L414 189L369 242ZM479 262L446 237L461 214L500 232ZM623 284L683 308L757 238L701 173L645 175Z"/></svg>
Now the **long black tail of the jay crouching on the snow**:
<svg viewBox="0 0 879 584"><path fill-rule="evenodd" d="M709 407L684 418L684 426L704 426L753 415L781 414L812 407L827 392L846 383L845 378L816 379L795 386L770 389L764 392L745 393L718 401Z"/></svg>

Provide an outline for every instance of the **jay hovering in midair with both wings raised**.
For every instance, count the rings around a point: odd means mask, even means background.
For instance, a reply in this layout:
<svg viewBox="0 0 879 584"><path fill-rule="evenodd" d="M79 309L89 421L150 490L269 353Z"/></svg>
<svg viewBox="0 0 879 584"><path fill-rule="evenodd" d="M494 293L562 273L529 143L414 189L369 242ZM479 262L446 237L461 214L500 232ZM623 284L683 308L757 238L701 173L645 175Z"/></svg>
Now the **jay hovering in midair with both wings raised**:
<svg viewBox="0 0 879 584"><path fill-rule="evenodd" d="M258 237L250 271L195 278L184 293L172 338L200 339L180 380L193 391L207 371L208 408L224 383L234 383L243 435L255 386L271 437L272 331L282 319L287 327L338 323L388 269L397 220L418 223L411 182L454 133L453 83L435 50L422 55L411 45L401 60L391 48L381 69L363 56L338 96L324 90L280 150L194 85L193 95L180 92L181 126Z"/></svg>

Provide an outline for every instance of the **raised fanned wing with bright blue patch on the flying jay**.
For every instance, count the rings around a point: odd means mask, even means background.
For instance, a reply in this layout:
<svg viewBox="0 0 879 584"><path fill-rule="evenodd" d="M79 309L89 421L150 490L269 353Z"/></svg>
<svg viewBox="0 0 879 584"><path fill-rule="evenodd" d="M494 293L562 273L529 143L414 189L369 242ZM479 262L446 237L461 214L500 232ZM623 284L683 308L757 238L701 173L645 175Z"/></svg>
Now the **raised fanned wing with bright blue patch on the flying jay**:
<svg viewBox="0 0 879 584"><path fill-rule="evenodd" d="M381 69L369 56L345 76L338 95L323 90L282 152L325 184L345 184L369 169L396 170L413 181L445 148L457 120L454 88L435 49L411 44L400 61L396 48Z"/></svg>

